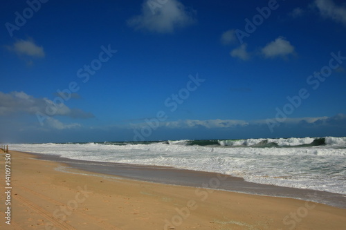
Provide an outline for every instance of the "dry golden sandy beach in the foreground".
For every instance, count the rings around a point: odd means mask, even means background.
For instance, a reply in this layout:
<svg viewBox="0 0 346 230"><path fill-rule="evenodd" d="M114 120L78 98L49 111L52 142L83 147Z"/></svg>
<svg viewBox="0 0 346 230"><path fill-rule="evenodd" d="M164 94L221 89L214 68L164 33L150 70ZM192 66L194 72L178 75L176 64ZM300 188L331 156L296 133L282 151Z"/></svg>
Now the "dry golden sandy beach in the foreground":
<svg viewBox="0 0 346 230"><path fill-rule="evenodd" d="M6 189L5 153L1 153L0 160L0 229L345 229L346 226L346 209L325 204L140 182L78 169L64 172L61 169L65 165L61 162L38 160L35 155L14 151L10 151L7 160L11 162L11 189ZM6 202L9 195L10 202Z"/></svg>

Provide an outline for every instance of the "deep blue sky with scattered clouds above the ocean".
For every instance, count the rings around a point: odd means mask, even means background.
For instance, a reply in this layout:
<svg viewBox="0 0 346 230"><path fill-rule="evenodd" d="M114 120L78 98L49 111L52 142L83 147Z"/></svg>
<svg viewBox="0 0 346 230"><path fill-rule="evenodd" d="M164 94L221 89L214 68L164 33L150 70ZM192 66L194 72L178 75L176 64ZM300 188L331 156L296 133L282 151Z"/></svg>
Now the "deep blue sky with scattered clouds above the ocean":
<svg viewBox="0 0 346 230"><path fill-rule="evenodd" d="M0 142L346 135L344 1L0 11Z"/></svg>

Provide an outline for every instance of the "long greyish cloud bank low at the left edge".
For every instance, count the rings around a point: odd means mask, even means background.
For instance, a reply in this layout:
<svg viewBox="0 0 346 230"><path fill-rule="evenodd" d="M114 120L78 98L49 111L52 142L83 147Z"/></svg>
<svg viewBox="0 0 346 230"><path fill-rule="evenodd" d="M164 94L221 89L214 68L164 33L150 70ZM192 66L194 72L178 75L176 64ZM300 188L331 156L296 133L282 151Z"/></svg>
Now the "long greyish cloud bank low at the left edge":
<svg viewBox="0 0 346 230"><path fill-rule="evenodd" d="M35 98L24 92L0 92L0 115L11 115L14 113L35 115L39 112L46 115L61 115L73 118L94 117L92 113L86 113L79 108L69 108L65 104L61 104L61 101L63 100L53 102L47 98Z"/></svg>

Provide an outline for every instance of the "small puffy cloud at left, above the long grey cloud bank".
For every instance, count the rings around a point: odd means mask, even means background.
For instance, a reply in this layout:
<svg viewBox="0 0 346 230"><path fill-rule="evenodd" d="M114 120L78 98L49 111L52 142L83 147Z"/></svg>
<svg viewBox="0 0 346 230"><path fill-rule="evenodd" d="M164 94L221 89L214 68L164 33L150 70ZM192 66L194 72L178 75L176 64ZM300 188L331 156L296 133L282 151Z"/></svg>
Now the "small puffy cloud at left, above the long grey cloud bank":
<svg viewBox="0 0 346 230"><path fill-rule="evenodd" d="M15 42L12 46L9 47L10 50L13 50L17 55L26 55L30 57L44 57L44 48L42 46L37 46L34 41L20 39Z"/></svg>

